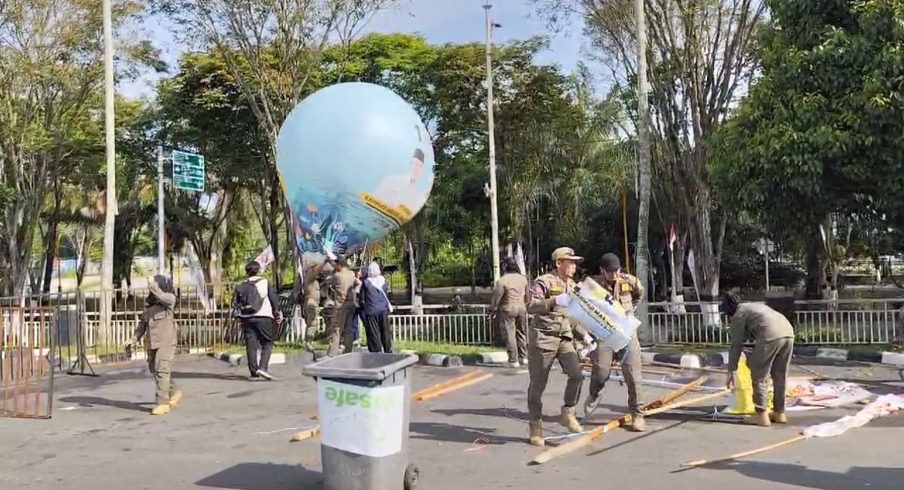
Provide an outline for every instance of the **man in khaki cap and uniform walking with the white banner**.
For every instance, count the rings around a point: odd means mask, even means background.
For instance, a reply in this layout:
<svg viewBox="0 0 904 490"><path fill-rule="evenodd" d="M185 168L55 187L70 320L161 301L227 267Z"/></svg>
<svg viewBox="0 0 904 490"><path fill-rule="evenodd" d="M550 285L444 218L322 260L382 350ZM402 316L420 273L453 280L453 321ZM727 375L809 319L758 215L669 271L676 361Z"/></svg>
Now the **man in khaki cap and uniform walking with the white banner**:
<svg viewBox="0 0 904 490"><path fill-rule="evenodd" d="M574 254L574 250L557 248L552 252L555 271L538 277L531 288L531 302L527 306L527 311L533 315L527 340L528 371L531 376L527 390L527 408L531 415L530 442L533 446L544 444L542 396L550 369L556 360L568 374L560 423L570 432L583 430L574 410L580 398L580 385L584 381L574 337L583 337L586 331L572 325L565 310L571 300L568 293L575 288L572 277L581 260L581 257Z"/></svg>

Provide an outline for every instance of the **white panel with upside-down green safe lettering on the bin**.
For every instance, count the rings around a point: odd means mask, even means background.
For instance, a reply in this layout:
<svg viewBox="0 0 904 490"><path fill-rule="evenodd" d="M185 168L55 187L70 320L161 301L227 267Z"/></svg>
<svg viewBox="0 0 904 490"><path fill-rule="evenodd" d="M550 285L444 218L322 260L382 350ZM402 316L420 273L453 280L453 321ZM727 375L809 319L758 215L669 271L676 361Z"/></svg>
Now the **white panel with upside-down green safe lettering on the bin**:
<svg viewBox="0 0 904 490"><path fill-rule="evenodd" d="M320 443L381 458L401 450L405 386L367 388L317 380Z"/></svg>

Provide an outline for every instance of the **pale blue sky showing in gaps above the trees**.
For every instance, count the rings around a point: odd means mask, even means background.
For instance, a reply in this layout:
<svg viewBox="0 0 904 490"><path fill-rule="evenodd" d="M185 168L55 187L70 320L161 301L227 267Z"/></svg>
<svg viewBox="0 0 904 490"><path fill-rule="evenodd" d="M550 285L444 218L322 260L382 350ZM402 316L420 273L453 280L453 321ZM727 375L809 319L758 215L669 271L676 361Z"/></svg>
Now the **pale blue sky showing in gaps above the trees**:
<svg viewBox="0 0 904 490"><path fill-rule="evenodd" d="M428 42L484 42L485 0L403 0L401 5L376 14L365 32L418 32ZM582 23L579 18L570 19L568 29L551 32L544 19L536 14L530 0L495 0L493 18L503 24L494 31L494 42L526 39L535 35L548 35L550 49L541 53L538 62L558 63L562 69L574 69L582 60ZM146 20L142 31L148 33L155 46L163 52L171 71L177 67L179 55L185 50L174 40L171 26L165 19L152 17ZM126 97L153 96L155 79L150 73L140 79L122 84L119 88Z"/></svg>

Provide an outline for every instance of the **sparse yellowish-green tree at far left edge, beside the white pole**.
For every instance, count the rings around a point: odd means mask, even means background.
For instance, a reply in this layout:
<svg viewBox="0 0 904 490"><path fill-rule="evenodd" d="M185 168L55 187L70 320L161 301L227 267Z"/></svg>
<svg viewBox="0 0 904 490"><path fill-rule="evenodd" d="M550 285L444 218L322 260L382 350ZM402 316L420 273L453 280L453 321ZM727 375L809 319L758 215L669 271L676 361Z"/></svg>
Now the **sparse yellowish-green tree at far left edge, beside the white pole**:
<svg viewBox="0 0 904 490"><path fill-rule="evenodd" d="M118 1L115 27L141 8L137 1ZM0 196L6 201L0 218L0 294L22 294L34 232L53 182L78 171L96 144L86 131L103 83L101 23L91 0L0 6ZM131 75L138 64L161 68L151 45L140 39L127 38L120 53L121 75ZM56 205L52 208L55 215ZM52 218L52 235L57 221Z"/></svg>

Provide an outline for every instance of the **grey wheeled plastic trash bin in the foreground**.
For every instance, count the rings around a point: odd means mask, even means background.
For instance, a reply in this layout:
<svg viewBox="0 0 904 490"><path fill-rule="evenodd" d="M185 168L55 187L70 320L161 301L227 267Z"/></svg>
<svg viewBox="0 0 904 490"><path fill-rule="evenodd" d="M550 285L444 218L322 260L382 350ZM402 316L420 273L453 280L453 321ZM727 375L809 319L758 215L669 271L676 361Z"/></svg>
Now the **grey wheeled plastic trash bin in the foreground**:
<svg viewBox="0 0 904 490"><path fill-rule="evenodd" d="M353 352L307 365L317 380L325 490L411 490L410 366L418 356Z"/></svg>

